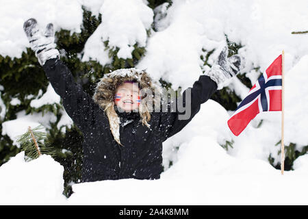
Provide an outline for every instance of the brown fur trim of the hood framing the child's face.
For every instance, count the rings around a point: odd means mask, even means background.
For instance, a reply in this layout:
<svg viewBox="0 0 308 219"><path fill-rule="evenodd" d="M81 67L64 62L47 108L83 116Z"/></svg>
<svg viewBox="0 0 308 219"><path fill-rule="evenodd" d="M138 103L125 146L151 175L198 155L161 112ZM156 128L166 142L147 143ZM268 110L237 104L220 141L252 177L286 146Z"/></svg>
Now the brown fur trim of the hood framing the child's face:
<svg viewBox="0 0 308 219"><path fill-rule="evenodd" d="M154 82L153 79L146 73L145 70L138 70L136 68L121 68L118 70L114 70L112 73L108 73L101 78L101 81L97 83L97 87L95 88L95 92L93 95L93 100L95 103L101 107L107 114L107 117L110 122L110 129L114 136L116 142L120 144L120 133L119 133L119 123L120 119L118 118L118 114L116 114L114 110L114 96L116 94L116 88L120 86L121 83L125 81L136 81L138 82L138 86L140 90L149 94L151 92L151 100L153 101L154 107L159 106L160 104L160 95L155 95L157 92L161 94L161 88L157 82ZM142 125L146 125L149 127L149 120L151 120L150 109L147 104L148 100L144 98L146 96L144 94L141 96L141 103L138 109L140 114L140 120Z"/></svg>

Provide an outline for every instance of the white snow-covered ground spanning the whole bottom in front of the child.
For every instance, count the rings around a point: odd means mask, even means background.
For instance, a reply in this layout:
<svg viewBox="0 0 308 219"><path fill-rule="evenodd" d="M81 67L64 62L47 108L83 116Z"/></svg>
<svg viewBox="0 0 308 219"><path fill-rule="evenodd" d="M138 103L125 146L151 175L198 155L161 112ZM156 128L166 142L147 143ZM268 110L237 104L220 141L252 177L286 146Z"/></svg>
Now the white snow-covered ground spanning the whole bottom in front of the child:
<svg viewBox="0 0 308 219"><path fill-rule="evenodd" d="M26 163L19 153L0 168L0 205L308 205L308 155L281 175L203 136L181 146L179 161L159 180L78 183L65 198L63 171L49 155Z"/></svg>

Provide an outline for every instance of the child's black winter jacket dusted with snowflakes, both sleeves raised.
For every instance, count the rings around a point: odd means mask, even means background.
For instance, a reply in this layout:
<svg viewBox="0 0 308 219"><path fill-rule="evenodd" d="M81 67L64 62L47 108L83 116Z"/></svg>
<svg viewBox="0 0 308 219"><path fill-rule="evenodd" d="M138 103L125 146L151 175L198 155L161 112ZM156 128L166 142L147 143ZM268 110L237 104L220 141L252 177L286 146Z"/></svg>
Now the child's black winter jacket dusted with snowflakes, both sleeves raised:
<svg viewBox="0 0 308 219"><path fill-rule="evenodd" d="M105 112L75 82L63 62L47 60L43 68L55 92L63 99L68 116L84 134L83 182L159 179L163 171L162 142L181 131L217 89L216 83L205 75L188 88L192 94L192 113L188 120L179 120L179 112L152 112L149 129L142 126L138 113L118 113L122 124L120 142L123 146L120 146L112 136Z"/></svg>

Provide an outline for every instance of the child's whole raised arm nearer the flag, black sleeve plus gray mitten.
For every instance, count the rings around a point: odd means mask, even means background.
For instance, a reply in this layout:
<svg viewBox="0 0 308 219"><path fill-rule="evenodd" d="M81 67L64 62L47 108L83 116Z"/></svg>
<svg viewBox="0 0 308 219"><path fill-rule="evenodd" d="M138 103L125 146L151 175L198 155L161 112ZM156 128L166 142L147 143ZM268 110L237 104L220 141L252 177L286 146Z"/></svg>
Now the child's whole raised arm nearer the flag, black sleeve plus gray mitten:
<svg viewBox="0 0 308 219"><path fill-rule="evenodd" d="M201 75L192 88L186 89L181 96L173 100L177 106L180 101L182 109L179 110L177 107L174 112L160 113L159 131L163 135L162 139L170 138L188 125L199 112L201 104L205 103L216 90L222 89L224 83L235 76L242 67L241 57L233 55L227 58L227 47L225 47L211 69L205 75Z"/></svg>

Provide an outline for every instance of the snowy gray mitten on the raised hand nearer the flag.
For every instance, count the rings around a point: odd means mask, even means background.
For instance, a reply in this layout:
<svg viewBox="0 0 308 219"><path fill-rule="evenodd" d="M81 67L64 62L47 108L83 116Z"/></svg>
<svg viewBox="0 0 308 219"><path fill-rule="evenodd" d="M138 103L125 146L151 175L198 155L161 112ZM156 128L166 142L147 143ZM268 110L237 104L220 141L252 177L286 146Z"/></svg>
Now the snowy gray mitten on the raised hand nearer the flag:
<svg viewBox="0 0 308 219"><path fill-rule="evenodd" d="M218 90L222 89L224 84L239 73L244 66L244 60L240 55L232 55L229 58L227 55L228 49L227 47L224 47L218 55L215 64L211 66L211 69L207 73L205 73L205 75L209 76L217 83Z"/></svg>

